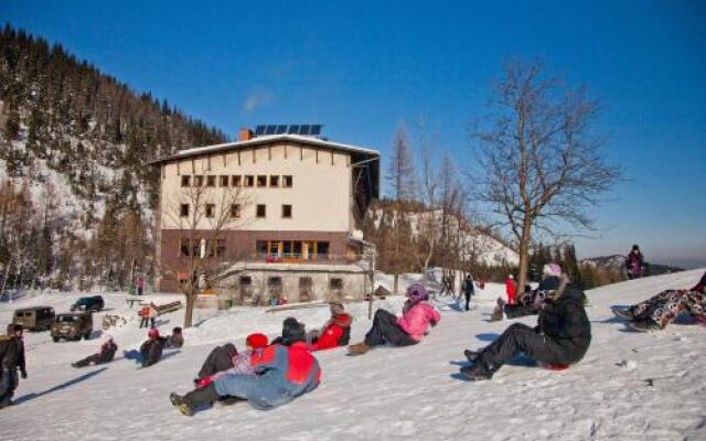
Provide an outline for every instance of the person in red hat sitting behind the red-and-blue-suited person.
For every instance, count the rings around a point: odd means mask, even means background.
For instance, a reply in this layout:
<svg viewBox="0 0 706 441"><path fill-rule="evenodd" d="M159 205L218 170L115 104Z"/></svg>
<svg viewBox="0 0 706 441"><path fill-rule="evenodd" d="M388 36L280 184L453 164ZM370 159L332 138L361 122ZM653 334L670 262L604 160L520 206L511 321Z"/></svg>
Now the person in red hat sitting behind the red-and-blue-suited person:
<svg viewBox="0 0 706 441"><path fill-rule="evenodd" d="M246 351L238 353L233 344L227 343L213 349L199 372L199 378L194 380L196 387L208 386L226 374L255 375L255 365L259 363L267 347L267 335L260 333L248 335L245 338L245 347ZM225 359L225 357L228 358ZM205 373L211 374L202 375Z"/></svg>

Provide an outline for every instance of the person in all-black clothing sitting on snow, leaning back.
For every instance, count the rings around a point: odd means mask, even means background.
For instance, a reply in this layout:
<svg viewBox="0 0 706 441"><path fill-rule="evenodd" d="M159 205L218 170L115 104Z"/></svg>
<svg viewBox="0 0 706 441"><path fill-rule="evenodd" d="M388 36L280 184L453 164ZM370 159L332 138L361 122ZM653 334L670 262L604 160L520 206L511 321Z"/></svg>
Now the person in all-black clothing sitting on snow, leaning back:
<svg viewBox="0 0 706 441"><path fill-rule="evenodd" d="M580 361L591 342L582 291L570 286L564 275L558 286L547 283L546 293L536 327L515 323L481 352L464 351L473 365L462 367L461 374L472 380L491 379L503 364L520 353L557 367Z"/></svg>

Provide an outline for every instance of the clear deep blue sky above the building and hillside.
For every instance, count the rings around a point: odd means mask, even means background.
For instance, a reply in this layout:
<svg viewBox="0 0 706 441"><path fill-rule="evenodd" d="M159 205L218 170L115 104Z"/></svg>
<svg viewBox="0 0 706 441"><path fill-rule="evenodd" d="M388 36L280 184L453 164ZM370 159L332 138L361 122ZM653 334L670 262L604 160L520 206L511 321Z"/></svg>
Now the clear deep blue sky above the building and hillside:
<svg viewBox="0 0 706 441"><path fill-rule="evenodd" d="M318 122L385 155L399 121L424 116L461 169L502 60L542 58L601 99L607 158L629 179L578 252L635 243L651 261L706 266L704 1L2 0L0 21L231 137Z"/></svg>

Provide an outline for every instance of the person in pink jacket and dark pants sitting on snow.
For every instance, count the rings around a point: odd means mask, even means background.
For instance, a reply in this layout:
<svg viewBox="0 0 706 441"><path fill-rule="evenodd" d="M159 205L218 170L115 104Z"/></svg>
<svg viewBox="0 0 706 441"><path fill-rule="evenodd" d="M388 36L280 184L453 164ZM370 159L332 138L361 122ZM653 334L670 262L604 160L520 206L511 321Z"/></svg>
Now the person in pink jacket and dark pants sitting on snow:
<svg viewBox="0 0 706 441"><path fill-rule="evenodd" d="M421 284L407 288L407 301L403 314L395 314L377 310L373 319L373 327L365 334L365 341L349 346L352 355L362 355L373 346L391 344L393 346L409 346L417 344L426 335L429 325L436 326L441 314L427 303L429 295Z"/></svg>

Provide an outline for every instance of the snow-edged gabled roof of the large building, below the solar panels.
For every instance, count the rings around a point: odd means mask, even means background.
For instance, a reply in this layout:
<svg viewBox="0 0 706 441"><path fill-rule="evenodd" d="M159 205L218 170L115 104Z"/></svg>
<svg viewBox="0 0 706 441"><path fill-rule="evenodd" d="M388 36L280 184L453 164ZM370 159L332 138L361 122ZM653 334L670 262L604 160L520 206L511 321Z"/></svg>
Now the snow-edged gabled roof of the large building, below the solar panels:
<svg viewBox="0 0 706 441"><path fill-rule="evenodd" d="M367 149L364 147L344 144L340 142L331 142L328 140L323 140L315 137L307 137L302 135L266 135L260 137L255 137L247 141L235 141L235 142L225 142L222 144L214 146L204 146L204 147L194 147L192 149L181 150L178 153L171 154L169 157L159 158L153 161L150 161L151 164L161 164L163 162L176 161L184 158L199 157L202 154L208 153L222 153L231 150L246 149L250 147L261 146L261 144L272 144L277 142L298 142L306 143L309 146L321 147L324 149L339 150L349 153L359 153L368 157L379 157L379 152L377 150Z"/></svg>

